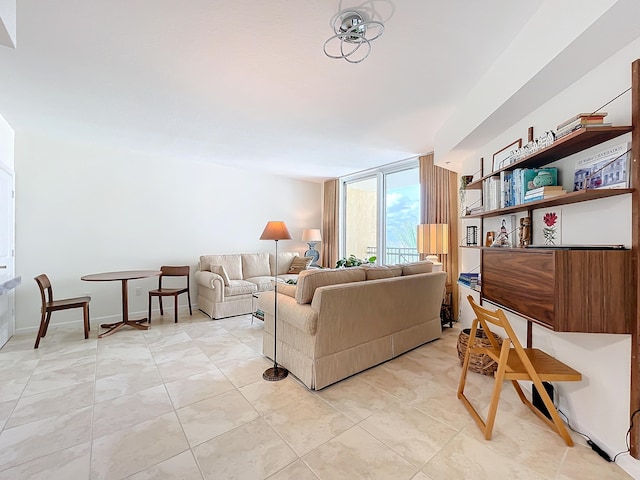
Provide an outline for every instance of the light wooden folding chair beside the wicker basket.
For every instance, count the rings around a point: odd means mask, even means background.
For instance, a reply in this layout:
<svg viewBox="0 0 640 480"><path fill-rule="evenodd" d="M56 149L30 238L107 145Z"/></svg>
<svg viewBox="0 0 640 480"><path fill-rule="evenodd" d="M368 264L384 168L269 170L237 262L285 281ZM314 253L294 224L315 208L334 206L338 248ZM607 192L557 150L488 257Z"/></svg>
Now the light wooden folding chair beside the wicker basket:
<svg viewBox="0 0 640 480"><path fill-rule="evenodd" d="M491 440L491 432L496 418L502 383L504 380L511 380L511 384L513 388L515 388L522 403L527 405L541 420L555 430L568 446L573 446L571 435L569 435L542 382L576 382L582 380L582 375L542 350L537 348L523 348L506 315L501 309L495 311L487 310L476 304L471 295L469 295L467 299L476 315L476 318L471 324L469 338L476 338L478 327L482 327L490 341L490 346L475 346L472 345L472 341L469 340L469 346L465 352L462 365L460 383L458 385L458 398L462 400L462 403L478 424L480 430L484 433L484 437L487 440ZM506 336L502 339L502 347L498 345L498 340L494 337L489 325L494 325L504 330ZM469 359L474 353L488 355L498 362L498 369L494 374L495 382L486 421L483 420L469 399L464 395L464 387L469 370ZM520 380L533 382L533 385L540 395L540 399L545 407L547 407L551 419L547 418L525 397L518 383Z"/></svg>

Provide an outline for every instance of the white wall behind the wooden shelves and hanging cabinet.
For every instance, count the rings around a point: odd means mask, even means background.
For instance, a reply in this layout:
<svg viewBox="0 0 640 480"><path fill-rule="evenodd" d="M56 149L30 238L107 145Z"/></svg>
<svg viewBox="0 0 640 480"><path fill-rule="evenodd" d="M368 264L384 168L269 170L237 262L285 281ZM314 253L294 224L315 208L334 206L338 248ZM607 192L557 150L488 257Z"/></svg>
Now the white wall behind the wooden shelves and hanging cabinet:
<svg viewBox="0 0 640 480"><path fill-rule="evenodd" d="M578 112L591 112L631 85L631 63L640 57L640 41L635 41L615 56L596 67L549 102L540 106L499 137L488 141L477 152L477 160L467 161L465 172L479 169L479 159L491 159L494 152L517 138L527 141L527 128L534 127L534 136L555 129L561 121ZM605 121L614 125L630 125L631 93L628 92L602 110L609 112ZM594 147L554 164L561 171L561 182L573 189L575 162L589 153L631 141L630 134ZM485 170L487 171L487 170ZM637 188L637 186L636 186ZM620 243L631 245L630 196L567 205L562 210L562 242L577 244ZM534 212L535 215L535 212ZM534 217L535 218L535 217ZM462 228L464 231L465 223ZM535 228L535 226L534 226ZM475 251L464 250L461 271L478 264ZM585 278L585 282L589 279ZM465 298L468 290L461 289ZM466 300L465 300L466 302ZM463 307L463 326L471 323L468 308ZM526 322L511 317L519 335L525 338ZM629 390L631 339L629 335L563 334L534 327L534 346L560 358L583 375L579 384L557 383L559 408L568 415L574 428L589 435L611 456L627 449L625 439L629 428ZM640 478L640 462L629 456L618 463Z"/></svg>

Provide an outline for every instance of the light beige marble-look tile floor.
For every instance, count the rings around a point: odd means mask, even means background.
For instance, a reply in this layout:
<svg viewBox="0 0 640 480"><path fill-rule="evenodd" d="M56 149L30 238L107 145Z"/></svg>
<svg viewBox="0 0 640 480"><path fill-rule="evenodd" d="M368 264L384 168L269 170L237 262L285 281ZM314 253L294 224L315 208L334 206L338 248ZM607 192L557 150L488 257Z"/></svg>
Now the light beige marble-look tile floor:
<svg viewBox="0 0 640 480"><path fill-rule="evenodd" d="M458 329L319 392L262 380L262 322L200 312L0 350L0 480L625 479L506 386L493 439L456 398ZM471 373L486 405L491 380Z"/></svg>

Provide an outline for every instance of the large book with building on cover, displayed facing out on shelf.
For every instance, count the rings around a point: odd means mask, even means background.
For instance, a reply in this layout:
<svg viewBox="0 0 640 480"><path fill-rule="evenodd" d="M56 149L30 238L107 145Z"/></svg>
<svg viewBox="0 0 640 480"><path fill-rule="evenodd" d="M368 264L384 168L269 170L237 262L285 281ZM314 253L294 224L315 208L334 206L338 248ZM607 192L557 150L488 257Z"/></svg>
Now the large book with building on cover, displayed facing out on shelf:
<svg viewBox="0 0 640 480"><path fill-rule="evenodd" d="M576 162L573 191L583 188L629 188L631 142L607 148Z"/></svg>

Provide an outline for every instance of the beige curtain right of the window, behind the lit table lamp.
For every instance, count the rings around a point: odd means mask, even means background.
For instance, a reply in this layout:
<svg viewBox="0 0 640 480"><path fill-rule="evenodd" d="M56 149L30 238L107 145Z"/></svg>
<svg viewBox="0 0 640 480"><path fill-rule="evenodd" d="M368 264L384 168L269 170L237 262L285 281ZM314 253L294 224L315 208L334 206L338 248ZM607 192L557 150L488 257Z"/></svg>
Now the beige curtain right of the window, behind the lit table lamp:
<svg viewBox="0 0 640 480"><path fill-rule="evenodd" d="M440 261L451 285L453 315L458 317L458 174L433 164L433 153L420 160L420 222L449 225L449 254Z"/></svg>

